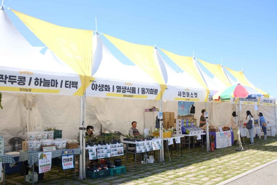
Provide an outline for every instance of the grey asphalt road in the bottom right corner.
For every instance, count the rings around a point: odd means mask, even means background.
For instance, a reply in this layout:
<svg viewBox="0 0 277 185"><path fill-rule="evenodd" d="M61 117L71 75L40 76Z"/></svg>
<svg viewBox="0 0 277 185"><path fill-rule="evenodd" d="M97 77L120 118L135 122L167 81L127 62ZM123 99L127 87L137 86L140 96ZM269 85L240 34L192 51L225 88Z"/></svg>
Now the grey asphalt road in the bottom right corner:
<svg viewBox="0 0 277 185"><path fill-rule="evenodd" d="M276 185L277 184L277 162L271 165L268 165L266 167L263 167L252 173L249 173L248 175L243 176L239 179L236 179L235 181L232 181L227 185L237 185L237 184L243 184L243 185L274 184Z"/></svg>

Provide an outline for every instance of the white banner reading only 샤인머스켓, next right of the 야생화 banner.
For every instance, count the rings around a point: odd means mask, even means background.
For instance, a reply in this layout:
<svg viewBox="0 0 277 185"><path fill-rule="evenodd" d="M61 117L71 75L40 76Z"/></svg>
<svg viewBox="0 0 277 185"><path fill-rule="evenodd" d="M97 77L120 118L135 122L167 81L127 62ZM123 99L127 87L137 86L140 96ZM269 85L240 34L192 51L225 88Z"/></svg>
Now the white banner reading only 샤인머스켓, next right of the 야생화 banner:
<svg viewBox="0 0 277 185"><path fill-rule="evenodd" d="M167 86L163 100L165 101L207 101L207 91L205 89L189 89L184 87Z"/></svg>

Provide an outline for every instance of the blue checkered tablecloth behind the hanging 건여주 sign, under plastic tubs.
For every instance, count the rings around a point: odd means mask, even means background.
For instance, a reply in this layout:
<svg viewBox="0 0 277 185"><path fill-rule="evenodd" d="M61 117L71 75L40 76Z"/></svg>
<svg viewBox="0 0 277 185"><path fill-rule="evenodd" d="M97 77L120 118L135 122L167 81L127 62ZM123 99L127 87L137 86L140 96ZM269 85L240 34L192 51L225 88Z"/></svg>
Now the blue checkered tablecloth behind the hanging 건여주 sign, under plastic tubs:
<svg viewBox="0 0 277 185"><path fill-rule="evenodd" d="M52 158L60 157L62 156L62 151L65 150L55 150L52 151ZM72 149L74 154L81 154L82 151L80 148ZM28 161L29 166L33 166L34 163L37 163L39 161L38 154L42 152L26 152L24 150L20 150L19 152L19 161Z"/></svg>

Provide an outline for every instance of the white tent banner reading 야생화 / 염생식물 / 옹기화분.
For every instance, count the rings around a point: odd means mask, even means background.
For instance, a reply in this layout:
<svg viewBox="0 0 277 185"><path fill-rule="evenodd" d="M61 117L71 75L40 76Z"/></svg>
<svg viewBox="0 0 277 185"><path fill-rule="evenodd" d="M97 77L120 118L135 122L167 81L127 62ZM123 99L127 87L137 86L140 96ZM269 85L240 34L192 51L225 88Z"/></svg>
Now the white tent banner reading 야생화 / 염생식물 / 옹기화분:
<svg viewBox="0 0 277 185"><path fill-rule="evenodd" d="M161 89L159 84L143 84L95 78L86 89L86 96L105 98L156 99ZM161 99L159 97L159 99Z"/></svg>

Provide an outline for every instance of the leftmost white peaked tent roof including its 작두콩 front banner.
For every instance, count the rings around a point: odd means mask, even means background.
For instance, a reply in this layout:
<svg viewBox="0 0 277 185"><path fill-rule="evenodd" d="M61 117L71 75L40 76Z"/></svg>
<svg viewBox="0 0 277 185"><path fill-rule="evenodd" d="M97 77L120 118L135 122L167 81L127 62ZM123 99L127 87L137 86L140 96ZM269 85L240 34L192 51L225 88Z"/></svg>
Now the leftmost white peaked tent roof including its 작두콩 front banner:
<svg viewBox="0 0 277 185"><path fill-rule="evenodd" d="M0 84L1 91L66 95L75 93L75 88L65 87L65 81L80 84L78 74L55 60L47 60L39 53L15 28L4 9L0 9L0 32L0 71L7 78L13 78Z"/></svg>

